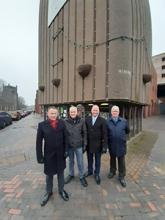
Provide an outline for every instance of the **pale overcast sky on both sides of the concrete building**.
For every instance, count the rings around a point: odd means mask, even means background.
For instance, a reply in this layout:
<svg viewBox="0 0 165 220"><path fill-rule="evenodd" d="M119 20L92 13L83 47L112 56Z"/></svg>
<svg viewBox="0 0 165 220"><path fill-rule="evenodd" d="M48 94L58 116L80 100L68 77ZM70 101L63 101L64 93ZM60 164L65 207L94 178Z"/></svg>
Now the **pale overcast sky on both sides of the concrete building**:
<svg viewBox="0 0 165 220"><path fill-rule="evenodd" d="M153 55L165 52L165 0L149 0ZM0 0L0 79L33 105L38 87L39 0Z"/></svg>

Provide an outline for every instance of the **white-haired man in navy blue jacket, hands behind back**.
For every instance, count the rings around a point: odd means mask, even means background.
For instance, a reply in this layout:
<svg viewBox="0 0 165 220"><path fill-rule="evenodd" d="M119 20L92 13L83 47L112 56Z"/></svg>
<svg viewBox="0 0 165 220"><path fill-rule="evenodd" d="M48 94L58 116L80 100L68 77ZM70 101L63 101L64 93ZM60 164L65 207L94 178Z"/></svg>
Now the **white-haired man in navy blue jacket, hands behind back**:
<svg viewBox="0 0 165 220"><path fill-rule="evenodd" d="M107 121L108 127L108 147L110 153L110 172L109 179L116 174L116 159L118 160L119 181L123 187L126 187L125 175L125 154L126 154L126 134L130 129L126 119L119 117L119 107L113 106L111 117Z"/></svg>

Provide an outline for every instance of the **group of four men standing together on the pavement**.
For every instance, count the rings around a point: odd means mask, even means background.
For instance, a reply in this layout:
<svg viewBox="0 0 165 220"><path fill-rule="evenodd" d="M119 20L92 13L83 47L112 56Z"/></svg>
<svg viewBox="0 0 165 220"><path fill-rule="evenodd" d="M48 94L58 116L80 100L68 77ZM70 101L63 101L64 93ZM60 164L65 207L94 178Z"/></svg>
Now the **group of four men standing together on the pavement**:
<svg viewBox="0 0 165 220"><path fill-rule="evenodd" d="M123 187L125 182L126 134L128 123L119 117L119 107L113 106L111 117L106 121L99 115L99 107L93 105L91 116L83 119L78 116L77 108L69 109L66 120L58 119L55 107L48 109L48 119L39 123L36 138L36 155L38 163L44 163L46 174L46 193L41 199L44 206L52 195L53 175L57 174L59 195L64 201L69 200L64 184L74 179L74 156L77 159L81 185L87 187L87 176L94 175L99 185L101 155L110 153L110 172L108 178L116 174L116 158L118 159L119 181ZM44 140L44 148L43 148ZM87 151L88 170L84 172L83 153ZM69 175L64 179L66 157L69 156ZM93 170L93 161L95 168Z"/></svg>

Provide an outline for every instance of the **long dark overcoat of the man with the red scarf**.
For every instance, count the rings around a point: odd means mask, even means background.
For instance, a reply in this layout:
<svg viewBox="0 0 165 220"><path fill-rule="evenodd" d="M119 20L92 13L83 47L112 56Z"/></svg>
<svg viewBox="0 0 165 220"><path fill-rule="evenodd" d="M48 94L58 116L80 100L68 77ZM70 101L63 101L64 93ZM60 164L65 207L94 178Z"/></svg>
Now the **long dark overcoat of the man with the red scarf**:
<svg viewBox="0 0 165 220"><path fill-rule="evenodd" d="M38 161L44 158L44 173L46 175L60 173L66 168L64 154L68 144L67 140L64 121L58 119L55 129L51 127L48 120L38 124L36 155Z"/></svg>

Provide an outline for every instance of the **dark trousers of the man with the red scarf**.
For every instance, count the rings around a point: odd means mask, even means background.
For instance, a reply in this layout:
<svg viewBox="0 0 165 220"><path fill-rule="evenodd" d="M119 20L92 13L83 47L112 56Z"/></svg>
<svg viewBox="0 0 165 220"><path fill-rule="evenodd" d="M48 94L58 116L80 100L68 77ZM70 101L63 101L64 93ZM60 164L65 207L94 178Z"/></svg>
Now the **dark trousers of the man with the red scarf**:
<svg viewBox="0 0 165 220"><path fill-rule="evenodd" d="M57 174L58 180L58 191L64 190L64 171ZM50 193L53 191L53 175L46 175L46 192Z"/></svg>

